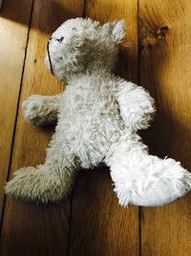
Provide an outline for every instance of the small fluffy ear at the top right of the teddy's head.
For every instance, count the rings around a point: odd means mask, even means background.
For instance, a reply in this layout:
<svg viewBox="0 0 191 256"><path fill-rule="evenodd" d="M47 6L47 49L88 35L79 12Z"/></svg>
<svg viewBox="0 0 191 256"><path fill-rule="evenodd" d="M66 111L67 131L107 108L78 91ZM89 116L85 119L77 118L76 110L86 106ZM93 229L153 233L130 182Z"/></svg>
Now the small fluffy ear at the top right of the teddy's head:
<svg viewBox="0 0 191 256"><path fill-rule="evenodd" d="M111 23L112 29L112 38L116 43L119 43L122 38L125 36L125 21L124 19L119 21L114 21Z"/></svg>

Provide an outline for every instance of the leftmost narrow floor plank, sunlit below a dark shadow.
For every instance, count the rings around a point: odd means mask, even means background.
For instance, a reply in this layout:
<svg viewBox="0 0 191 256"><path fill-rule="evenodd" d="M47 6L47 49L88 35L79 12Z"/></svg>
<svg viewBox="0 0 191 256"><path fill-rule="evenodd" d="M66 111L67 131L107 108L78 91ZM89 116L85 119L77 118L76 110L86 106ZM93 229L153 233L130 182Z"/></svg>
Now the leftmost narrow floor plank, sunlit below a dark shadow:
<svg viewBox="0 0 191 256"><path fill-rule="evenodd" d="M0 219L31 9L32 0L7 0L0 16Z"/></svg>

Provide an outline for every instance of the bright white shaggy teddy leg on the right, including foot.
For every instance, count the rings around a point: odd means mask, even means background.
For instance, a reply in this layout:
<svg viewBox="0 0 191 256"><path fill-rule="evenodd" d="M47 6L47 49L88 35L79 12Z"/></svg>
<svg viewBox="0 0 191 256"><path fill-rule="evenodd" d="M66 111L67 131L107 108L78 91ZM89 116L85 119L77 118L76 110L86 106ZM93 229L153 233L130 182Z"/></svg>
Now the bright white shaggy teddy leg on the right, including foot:
<svg viewBox="0 0 191 256"><path fill-rule="evenodd" d="M106 157L119 204L158 206L191 189L191 174L174 159L149 155L137 134L125 135Z"/></svg>

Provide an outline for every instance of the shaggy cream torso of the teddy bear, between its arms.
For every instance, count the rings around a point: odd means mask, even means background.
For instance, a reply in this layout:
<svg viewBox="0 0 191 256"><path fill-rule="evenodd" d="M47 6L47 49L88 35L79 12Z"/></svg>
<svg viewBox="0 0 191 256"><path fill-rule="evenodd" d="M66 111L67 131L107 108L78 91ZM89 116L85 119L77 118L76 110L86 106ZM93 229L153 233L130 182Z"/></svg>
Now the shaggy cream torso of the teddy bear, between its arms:
<svg viewBox="0 0 191 256"><path fill-rule="evenodd" d="M115 78L83 76L62 95L56 130L83 168L102 162L124 128L113 90L116 84Z"/></svg>

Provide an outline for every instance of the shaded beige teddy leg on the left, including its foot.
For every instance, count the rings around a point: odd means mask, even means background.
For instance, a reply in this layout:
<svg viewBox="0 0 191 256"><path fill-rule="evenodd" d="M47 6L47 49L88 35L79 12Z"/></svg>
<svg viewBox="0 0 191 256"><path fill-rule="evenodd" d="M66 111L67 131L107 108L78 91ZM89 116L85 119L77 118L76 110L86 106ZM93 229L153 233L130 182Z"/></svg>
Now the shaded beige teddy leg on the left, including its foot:
<svg viewBox="0 0 191 256"><path fill-rule="evenodd" d="M5 187L6 194L46 203L66 198L74 183L74 155L53 139L45 164L25 167L14 173Z"/></svg>

